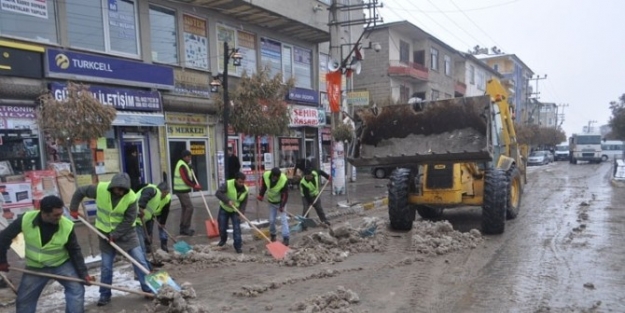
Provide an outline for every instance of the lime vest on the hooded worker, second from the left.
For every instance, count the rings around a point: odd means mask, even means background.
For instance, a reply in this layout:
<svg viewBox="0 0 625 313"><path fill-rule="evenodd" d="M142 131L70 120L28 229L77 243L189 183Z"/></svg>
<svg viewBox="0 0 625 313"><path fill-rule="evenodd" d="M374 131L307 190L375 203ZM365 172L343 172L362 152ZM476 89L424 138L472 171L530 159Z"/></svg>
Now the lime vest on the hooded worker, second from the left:
<svg viewBox="0 0 625 313"><path fill-rule="evenodd" d="M128 193L113 208L111 192L108 190L109 185L110 182L98 183L95 199L97 206L95 226L106 233L112 232L124 220L128 206L137 201L134 191L128 190Z"/></svg>

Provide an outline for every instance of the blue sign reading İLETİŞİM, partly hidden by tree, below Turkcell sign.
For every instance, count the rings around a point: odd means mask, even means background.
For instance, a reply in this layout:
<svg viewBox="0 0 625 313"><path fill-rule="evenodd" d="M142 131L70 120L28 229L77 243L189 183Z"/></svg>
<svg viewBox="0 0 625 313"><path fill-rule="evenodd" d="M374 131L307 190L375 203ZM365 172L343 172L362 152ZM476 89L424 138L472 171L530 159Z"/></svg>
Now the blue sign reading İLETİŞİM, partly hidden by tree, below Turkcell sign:
<svg viewBox="0 0 625 313"><path fill-rule="evenodd" d="M51 83L50 90L56 100L65 100L67 98L67 84ZM160 112L163 107L161 95L158 91L102 86L89 86L89 90L100 103L112 105L115 109L121 111Z"/></svg>

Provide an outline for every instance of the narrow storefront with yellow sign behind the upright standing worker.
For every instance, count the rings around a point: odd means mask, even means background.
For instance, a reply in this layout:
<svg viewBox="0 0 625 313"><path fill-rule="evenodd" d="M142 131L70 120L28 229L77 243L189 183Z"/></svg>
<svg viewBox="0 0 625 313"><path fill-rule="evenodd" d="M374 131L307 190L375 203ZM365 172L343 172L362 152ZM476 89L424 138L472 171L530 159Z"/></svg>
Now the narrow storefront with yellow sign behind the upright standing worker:
<svg viewBox="0 0 625 313"><path fill-rule="evenodd" d="M206 114L165 113L167 123L167 154L169 155L169 173L173 173L176 163L184 150L191 151L191 166L204 190L213 192L213 173L215 167L210 164L212 155L211 140ZM173 179L173 175L170 178ZM171 182L170 182L171 183Z"/></svg>

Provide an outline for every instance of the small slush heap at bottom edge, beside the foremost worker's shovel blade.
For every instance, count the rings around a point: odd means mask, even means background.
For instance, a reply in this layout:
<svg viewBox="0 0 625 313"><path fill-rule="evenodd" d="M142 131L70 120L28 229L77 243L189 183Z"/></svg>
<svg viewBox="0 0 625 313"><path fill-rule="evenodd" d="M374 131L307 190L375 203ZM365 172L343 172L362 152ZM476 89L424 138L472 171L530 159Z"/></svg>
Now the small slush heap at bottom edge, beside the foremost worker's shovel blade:
<svg viewBox="0 0 625 313"><path fill-rule="evenodd" d="M185 282L180 288L181 291L176 291L169 285L163 285L156 294L152 307L148 307L148 312L209 313L201 305L193 303L196 294L190 283Z"/></svg>

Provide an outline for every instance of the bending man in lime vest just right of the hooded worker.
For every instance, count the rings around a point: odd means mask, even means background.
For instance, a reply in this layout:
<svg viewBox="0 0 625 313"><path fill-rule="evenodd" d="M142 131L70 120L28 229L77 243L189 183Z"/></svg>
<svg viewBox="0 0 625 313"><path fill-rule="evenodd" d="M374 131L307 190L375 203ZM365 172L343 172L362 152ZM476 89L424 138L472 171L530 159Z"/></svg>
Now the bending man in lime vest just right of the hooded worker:
<svg viewBox="0 0 625 313"><path fill-rule="evenodd" d="M167 215L169 214L169 205L171 204L171 194L169 193L169 186L166 182L154 185L149 184L141 190L137 196L139 205L139 217L137 218L138 225L142 225L145 222L145 229L147 230L147 237L144 238L145 251L151 252L150 243L152 242L152 231L154 229L154 220L158 225L165 226L167 222ZM139 224L140 223L140 224ZM143 226L137 231L144 232ZM169 252L167 249L167 234L159 227L158 237L161 240L161 249L165 252Z"/></svg>

